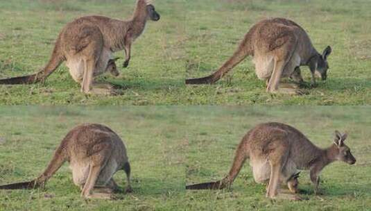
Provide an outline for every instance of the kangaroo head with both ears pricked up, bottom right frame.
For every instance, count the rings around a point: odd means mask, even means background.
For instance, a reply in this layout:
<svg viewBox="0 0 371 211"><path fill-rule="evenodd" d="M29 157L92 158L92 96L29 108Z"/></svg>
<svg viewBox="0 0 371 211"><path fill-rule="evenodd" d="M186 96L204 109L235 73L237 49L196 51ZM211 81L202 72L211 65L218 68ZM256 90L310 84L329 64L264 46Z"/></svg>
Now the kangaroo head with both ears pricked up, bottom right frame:
<svg viewBox="0 0 371 211"><path fill-rule="evenodd" d="M335 131L334 144L338 148L337 159L346 162L347 164L354 164L356 163L356 158L354 158L350 152L350 148L344 144L346 139L347 133L342 135L338 130Z"/></svg>

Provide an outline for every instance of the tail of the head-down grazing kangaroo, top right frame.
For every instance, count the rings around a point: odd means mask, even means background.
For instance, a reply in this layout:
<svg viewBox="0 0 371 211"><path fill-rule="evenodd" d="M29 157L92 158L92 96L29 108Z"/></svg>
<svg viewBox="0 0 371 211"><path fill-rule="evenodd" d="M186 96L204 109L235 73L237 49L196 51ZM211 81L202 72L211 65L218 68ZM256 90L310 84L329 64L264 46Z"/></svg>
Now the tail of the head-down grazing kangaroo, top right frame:
<svg viewBox="0 0 371 211"><path fill-rule="evenodd" d="M243 41L245 42L245 41ZM250 53L245 49L245 46L241 43L239 49L234 52L233 56L223 64L218 71L214 72L209 76L203 78L191 78L186 79L186 84L211 84L221 79L228 71L236 67L242 60L244 60Z"/></svg>

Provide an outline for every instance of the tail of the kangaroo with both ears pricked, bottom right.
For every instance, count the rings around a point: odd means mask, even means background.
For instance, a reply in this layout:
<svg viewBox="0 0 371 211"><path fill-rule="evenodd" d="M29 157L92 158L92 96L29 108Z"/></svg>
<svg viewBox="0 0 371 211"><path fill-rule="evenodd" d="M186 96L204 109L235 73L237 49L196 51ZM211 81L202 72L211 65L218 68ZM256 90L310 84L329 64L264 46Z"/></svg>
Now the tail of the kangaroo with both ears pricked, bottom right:
<svg viewBox="0 0 371 211"><path fill-rule="evenodd" d="M239 148L236 151L236 155L234 156L234 161L230 169L230 173L225 176L225 178L210 183L187 185L186 189L224 189L225 187L230 187L236 176L241 171L243 163L245 163L245 160L248 158L248 153L247 151L245 151L245 149L243 149L243 144L244 143L241 142L241 144L239 145Z"/></svg>

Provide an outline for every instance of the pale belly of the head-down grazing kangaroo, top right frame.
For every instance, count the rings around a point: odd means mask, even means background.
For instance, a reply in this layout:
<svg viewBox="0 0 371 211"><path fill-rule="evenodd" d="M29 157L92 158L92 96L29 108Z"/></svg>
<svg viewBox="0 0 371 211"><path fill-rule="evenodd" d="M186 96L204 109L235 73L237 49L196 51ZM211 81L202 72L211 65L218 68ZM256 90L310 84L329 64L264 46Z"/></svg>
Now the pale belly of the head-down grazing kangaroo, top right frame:
<svg viewBox="0 0 371 211"><path fill-rule="evenodd" d="M252 60L255 65L255 73L260 80L266 80L270 78L274 68L274 58L271 55L268 56L254 56Z"/></svg>

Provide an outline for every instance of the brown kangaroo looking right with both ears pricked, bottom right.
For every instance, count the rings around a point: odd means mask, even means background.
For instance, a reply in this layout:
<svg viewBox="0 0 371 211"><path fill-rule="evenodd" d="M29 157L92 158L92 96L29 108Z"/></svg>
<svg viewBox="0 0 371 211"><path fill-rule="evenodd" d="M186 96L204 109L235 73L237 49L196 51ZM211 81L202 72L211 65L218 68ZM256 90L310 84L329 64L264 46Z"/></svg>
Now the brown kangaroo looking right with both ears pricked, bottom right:
<svg viewBox="0 0 371 211"><path fill-rule="evenodd" d="M344 144L347 134L335 131L334 143L327 149L320 149L308 140L299 130L286 124L269 122L252 128L242 139L230 173L212 183L188 185L186 189L223 189L232 185L243 163L250 159L252 174L257 183L268 180L266 196L270 199L282 198L300 200L291 194L278 195L279 183L292 180L298 169L309 169L315 194L320 185L320 171L331 162L341 160L354 164L356 158ZM289 186L290 188L290 186Z"/></svg>

